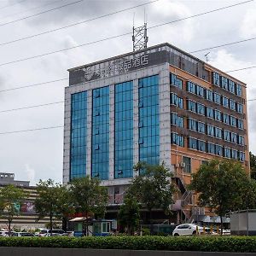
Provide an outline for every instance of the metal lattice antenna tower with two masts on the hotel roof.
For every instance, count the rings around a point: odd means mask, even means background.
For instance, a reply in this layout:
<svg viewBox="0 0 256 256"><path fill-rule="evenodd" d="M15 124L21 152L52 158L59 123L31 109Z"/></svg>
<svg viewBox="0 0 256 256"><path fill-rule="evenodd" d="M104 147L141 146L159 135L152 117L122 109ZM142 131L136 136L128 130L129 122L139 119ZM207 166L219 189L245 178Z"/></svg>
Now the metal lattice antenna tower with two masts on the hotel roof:
<svg viewBox="0 0 256 256"><path fill-rule="evenodd" d="M135 14L133 15L133 27L132 27L132 42L133 42L133 51L138 49L146 49L148 44L147 36L147 19L146 12L144 10L144 25L143 26L134 26Z"/></svg>

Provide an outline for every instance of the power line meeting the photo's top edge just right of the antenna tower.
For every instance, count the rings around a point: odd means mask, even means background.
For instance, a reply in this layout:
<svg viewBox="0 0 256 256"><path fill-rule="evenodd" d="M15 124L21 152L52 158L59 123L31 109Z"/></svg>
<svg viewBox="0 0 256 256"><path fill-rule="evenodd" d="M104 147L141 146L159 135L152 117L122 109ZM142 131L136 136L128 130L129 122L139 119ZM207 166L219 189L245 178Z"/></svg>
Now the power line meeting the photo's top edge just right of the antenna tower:
<svg viewBox="0 0 256 256"><path fill-rule="evenodd" d="M136 8L138 8L138 7L142 7L142 6L144 6L144 5L148 5L148 4L151 4L151 3L155 3L155 2L158 2L158 1L160 1L160 0L154 0L154 1L151 1L151 2L148 2L148 3L138 4L138 5L133 6L133 7L130 7L130 8L126 8L126 9L121 9L121 10L119 10L119 11L115 11L115 12L110 13L110 14L108 14L108 15L97 16L97 17L91 18L91 19L89 19L89 20L83 20L83 21L79 21L79 22L76 22L76 23L73 23L73 24L70 24L70 25L67 25L67 26L61 26L61 27L58 27L58 28L55 28L55 29L52 29L52 30L49 30L49 31L46 31L46 32L41 32L41 33L38 33L38 34L31 35L31 36L28 36L28 37L25 37L25 38L18 38L18 39L9 41L9 42L2 43L2 44L0 44L0 46L6 45L6 44L13 44L13 43L16 43L16 42L19 42L19 41L22 41L22 40L26 40L26 39L29 39L29 38L36 38L36 37L38 37L38 36L42 36L42 35L48 34L48 33L50 33L50 32L56 32L56 31L59 31L59 30L62 30L62 29L66 29L66 28L71 27L71 26L77 26L77 25L80 25L80 24L84 24L84 23L90 22L90 21L92 21L92 20L98 20L98 19L102 19L102 18L111 16L111 15L116 15L116 14L125 12L125 11L127 11L127 10L136 9Z"/></svg>

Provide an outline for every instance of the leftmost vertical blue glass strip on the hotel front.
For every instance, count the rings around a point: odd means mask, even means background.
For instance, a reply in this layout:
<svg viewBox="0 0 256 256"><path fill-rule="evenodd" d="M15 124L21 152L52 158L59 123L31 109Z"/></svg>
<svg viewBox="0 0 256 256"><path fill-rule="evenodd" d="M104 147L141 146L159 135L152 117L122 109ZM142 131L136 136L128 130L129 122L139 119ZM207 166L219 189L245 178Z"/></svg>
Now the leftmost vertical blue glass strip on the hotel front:
<svg viewBox="0 0 256 256"><path fill-rule="evenodd" d="M71 96L70 180L86 175L87 93Z"/></svg>

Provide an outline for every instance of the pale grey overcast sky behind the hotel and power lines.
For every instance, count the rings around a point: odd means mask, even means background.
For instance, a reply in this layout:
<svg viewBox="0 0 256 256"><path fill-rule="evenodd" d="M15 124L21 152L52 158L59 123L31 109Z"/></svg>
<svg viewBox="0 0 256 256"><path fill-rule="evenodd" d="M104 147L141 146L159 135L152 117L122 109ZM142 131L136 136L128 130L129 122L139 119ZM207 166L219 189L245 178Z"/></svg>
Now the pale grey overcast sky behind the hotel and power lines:
<svg viewBox="0 0 256 256"><path fill-rule="evenodd" d="M4 25L12 20L77 1L0 0L0 44L149 2L149 0L84 0L43 15ZM143 25L144 9L146 9L150 27L243 1L245 0L159 0L146 7L132 9L14 44L2 45L0 46L0 90L64 79L68 77L68 68L131 51L131 36L128 35L54 55L1 66L9 61L131 32L134 14L135 25ZM256 37L256 2L149 29L148 37L148 46L168 42L186 51L254 38ZM209 63L224 71L256 65L256 40L225 48L205 50L196 53L195 56L205 61L204 55L209 51ZM230 74L247 84L248 99L256 98L254 82L256 68ZM64 100L65 86L67 86L67 80L22 90L0 92L0 133L63 125L63 103L6 113L1 111L61 102ZM256 101L248 102L247 111L249 147L253 154L256 154ZM16 179L30 180L32 184L37 183L40 178L49 177L56 182L61 182L62 151L62 128L0 134L0 172L15 172Z"/></svg>

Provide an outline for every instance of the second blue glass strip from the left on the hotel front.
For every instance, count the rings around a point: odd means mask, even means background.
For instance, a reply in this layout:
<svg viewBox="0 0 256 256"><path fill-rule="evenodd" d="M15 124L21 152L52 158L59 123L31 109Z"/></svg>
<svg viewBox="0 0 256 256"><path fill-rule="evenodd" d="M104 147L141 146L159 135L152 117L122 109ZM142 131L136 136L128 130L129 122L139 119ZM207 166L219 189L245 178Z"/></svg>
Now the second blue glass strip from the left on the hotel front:
<svg viewBox="0 0 256 256"><path fill-rule="evenodd" d="M91 176L108 179L109 88L92 90Z"/></svg>

